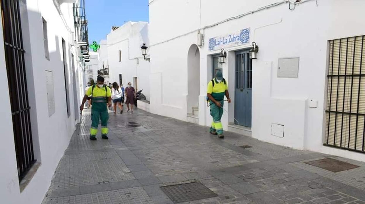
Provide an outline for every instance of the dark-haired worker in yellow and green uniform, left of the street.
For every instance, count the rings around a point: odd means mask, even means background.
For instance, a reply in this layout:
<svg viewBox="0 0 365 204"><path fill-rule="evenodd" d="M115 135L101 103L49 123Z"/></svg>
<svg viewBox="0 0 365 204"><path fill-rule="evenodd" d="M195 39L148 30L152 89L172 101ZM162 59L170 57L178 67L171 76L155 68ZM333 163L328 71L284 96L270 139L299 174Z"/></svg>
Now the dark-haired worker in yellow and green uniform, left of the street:
<svg viewBox="0 0 365 204"><path fill-rule="evenodd" d="M111 91L107 85L104 85L104 77L97 77L96 85L92 85L86 92L84 99L82 99L82 104L80 106L80 111L84 109L84 104L88 98L91 96L91 128L90 128L90 139L96 140L97 126L99 125L99 120L101 120L101 138L108 139L108 107L111 107Z"/></svg>

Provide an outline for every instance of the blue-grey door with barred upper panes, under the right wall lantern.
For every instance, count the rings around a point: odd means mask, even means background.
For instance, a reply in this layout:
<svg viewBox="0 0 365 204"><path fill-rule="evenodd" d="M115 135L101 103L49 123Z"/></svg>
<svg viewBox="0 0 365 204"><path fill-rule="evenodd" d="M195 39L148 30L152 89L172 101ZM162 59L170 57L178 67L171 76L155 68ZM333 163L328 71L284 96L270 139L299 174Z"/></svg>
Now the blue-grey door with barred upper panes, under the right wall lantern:
<svg viewBox="0 0 365 204"><path fill-rule="evenodd" d="M251 127L252 60L249 50L235 52L234 123Z"/></svg>

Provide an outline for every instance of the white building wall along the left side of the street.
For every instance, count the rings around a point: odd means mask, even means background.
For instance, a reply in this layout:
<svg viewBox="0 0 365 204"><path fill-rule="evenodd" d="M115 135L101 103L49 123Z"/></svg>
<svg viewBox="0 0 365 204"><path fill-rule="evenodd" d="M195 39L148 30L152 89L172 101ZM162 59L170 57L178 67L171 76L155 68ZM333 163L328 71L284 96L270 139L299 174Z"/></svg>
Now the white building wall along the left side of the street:
<svg viewBox="0 0 365 204"><path fill-rule="evenodd" d="M14 134L12 129L11 108L7 85L7 72L4 59L3 37L0 38L1 79L4 82L0 99L3 117L4 135L1 142L0 161L3 162L0 178L1 203L7 204L39 204L42 202L51 182L54 170L57 167L70 137L75 130L78 120L75 104L80 104L80 88L83 85L83 67L78 62L76 48L73 48L73 33L69 32L58 11L50 0L20 0L22 32L26 64L28 96L30 104L30 118L34 155L41 163L34 177L26 188L20 192L18 171L16 165ZM61 6L68 27L73 29L72 4L64 3ZM47 35L50 60L45 58L43 44L42 17L47 21ZM3 26L1 26L1 33ZM67 81L69 88L70 116L66 110L65 78L62 55L62 38L66 44ZM72 69L71 50L74 51L74 65ZM55 113L49 117L46 70L53 72ZM75 80L74 80L74 74ZM76 84L75 84L76 83ZM5 85L6 84L6 85ZM76 85L74 88L73 85ZM77 94L74 95L76 89Z"/></svg>

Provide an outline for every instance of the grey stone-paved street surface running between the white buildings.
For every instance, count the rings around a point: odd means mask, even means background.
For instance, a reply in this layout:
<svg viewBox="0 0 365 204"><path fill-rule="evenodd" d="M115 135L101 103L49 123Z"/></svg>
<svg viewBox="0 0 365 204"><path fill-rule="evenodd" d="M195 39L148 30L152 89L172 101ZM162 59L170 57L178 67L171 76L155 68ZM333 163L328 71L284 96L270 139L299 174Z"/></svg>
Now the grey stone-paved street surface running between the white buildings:
<svg viewBox="0 0 365 204"><path fill-rule="evenodd" d="M363 162L231 132L218 139L207 127L138 109L110 113L109 140L99 130L90 141L90 114L84 111L43 204L173 203L160 187L189 182L216 195L192 204L365 204ZM305 163L322 158L360 167L334 173Z"/></svg>

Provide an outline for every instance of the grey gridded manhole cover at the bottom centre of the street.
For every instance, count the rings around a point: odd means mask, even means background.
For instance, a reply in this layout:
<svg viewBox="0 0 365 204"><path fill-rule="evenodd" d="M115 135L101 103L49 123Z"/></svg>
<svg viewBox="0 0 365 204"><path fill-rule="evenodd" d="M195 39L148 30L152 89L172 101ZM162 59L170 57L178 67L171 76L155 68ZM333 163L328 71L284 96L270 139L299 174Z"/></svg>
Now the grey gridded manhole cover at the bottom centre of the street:
<svg viewBox="0 0 365 204"><path fill-rule="evenodd" d="M184 203L218 196L200 182L163 186L161 189L174 203Z"/></svg>

